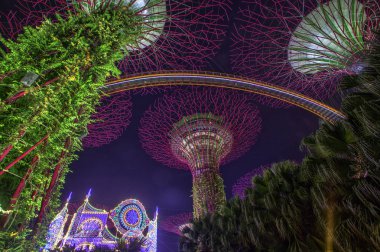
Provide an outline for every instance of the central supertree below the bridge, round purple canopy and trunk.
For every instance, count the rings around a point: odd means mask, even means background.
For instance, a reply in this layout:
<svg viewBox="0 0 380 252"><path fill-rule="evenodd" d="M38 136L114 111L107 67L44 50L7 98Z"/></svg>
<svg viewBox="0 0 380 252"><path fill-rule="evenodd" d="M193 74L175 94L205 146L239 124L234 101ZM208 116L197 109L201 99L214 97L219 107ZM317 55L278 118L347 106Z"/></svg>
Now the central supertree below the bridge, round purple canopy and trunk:
<svg viewBox="0 0 380 252"><path fill-rule="evenodd" d="M190 170L194 218L219 211L225 203L220 164L254 144L259 111L237 91L193 88L165 95L141 119L143 148L157 161Z"/></svg>

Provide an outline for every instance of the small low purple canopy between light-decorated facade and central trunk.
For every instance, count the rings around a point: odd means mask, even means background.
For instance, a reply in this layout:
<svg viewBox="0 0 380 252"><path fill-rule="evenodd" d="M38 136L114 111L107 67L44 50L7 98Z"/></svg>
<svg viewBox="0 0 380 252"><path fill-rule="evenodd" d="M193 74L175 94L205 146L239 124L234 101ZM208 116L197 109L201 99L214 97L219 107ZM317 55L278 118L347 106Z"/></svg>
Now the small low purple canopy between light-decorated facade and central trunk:
<svg viewBox="0 0 380 252"><path fill-rule="evenodd" d="M161 230L181 236L182 229L188 226L192 219L192 213L180 213L162 220L159 227Z"/></svg>

